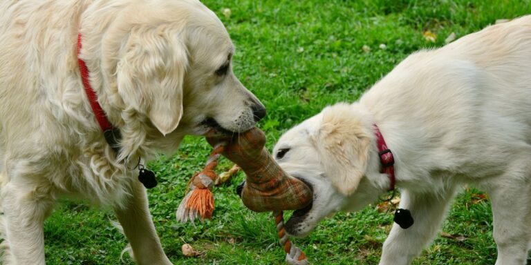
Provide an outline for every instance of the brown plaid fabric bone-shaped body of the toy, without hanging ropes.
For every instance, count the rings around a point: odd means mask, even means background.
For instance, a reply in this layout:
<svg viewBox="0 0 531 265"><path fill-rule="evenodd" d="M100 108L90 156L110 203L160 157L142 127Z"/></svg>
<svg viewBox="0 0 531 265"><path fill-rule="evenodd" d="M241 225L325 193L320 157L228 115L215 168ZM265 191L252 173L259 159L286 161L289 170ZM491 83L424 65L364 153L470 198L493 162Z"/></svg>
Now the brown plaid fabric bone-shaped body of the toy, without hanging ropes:
<svg viewBox="0 0 531 265"><path fill-rule="evenodd" d="M312 190L284 172L265 149L265 135L260 129L253 128L234 137L207 137L207 141L212 146L225 141L223 156L245 172L241 199L250 210L297 210L312 202Z"/></svg>

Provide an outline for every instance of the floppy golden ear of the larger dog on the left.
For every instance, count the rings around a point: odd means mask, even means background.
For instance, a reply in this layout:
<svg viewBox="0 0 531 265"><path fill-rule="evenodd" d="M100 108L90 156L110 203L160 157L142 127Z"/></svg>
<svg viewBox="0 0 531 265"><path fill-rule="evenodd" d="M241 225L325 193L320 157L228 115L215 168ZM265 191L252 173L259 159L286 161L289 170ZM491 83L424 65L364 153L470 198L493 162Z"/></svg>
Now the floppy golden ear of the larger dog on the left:
<svg viewBox="0 0 531 265"><path fill-rule="evenodd" d="M183 116L185 44L168 30L133 29L118 62L118 92L126 108L147 115L162 135Z"/></svg>

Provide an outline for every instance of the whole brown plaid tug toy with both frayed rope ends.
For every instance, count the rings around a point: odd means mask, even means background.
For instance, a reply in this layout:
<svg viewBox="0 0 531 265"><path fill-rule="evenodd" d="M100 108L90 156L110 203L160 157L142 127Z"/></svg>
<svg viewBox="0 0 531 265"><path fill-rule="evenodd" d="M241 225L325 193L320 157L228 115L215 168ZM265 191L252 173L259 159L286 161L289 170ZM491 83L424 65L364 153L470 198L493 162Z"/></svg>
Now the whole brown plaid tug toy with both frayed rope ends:
<svg viewBox="0 0 531 265"><path fill-rule="evenodd" d="M308 259L300 248L288 239L284 229L283 210L298 210L313 200L313 191L299 179L288 175L274 161L265 148L265 134L253 128L234 137L207 137L214 150L205 168L192 177L192 190L185 196L177 210L180 222L194 222L212 217L214 197L210 189L214 186L217 159L223 155L245 172L245 184L241 191L243 204L255 212L272 211L280 243L286 252L290 265L306 265Z"/></svg>

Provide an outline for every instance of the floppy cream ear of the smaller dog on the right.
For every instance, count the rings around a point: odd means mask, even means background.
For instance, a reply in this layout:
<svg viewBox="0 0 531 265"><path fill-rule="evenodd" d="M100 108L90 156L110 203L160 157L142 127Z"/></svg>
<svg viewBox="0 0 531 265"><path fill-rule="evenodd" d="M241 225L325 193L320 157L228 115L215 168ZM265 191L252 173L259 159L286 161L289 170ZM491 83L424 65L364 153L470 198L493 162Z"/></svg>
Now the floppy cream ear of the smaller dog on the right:
<svg viewBox="0 0 531 265"><path fill-rule="evenodd" d="M322 113L315 146L333 186L351 195L366 171L371 137L360 116L347 104L325 108Z"/></svg>

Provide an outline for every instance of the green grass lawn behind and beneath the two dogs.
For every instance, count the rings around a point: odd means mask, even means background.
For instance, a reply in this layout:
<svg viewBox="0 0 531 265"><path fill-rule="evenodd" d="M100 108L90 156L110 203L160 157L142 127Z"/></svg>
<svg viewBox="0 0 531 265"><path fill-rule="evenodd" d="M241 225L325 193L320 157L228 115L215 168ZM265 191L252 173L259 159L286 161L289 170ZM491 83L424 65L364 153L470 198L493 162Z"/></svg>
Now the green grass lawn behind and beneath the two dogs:
<svg viewBox="0 0 531 265"><path fill-rule="evenodd" d="M256 1L205 0L236 44L234 72L263 104L260 122L271 148L283 133L337 101L354 101L407 55L443 46L454 32L462 37L494 23L531 12L526 1ZM224 8L230 8L225 17ZM436 41L426 41L430 30ZM379 48L385 44L386 49ZM364 52L362 47L371 48ZM187 180L209 153L203 139L185 139L173 157L149 166L159 186L149 190L150 208L162 245L175 264L283 264L272 218L252 213L234 194L238 175L214 190L212 221L179 224L175 210ZM230 168L223 161L220 170ZM460 195L443 231L467 239L437 237L413 264L494 264L492 217L488 200L475 203L478 190ZM111 210L64 201L46 221L48 264L131 264L120 252L127 244L111 226ZM313 264L378 264L390 213L368 206L326 219L305 239L295 240ZM182 244L200 257L186 258Z"/></svg>

